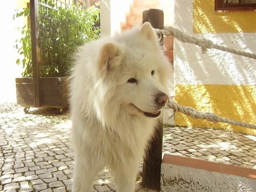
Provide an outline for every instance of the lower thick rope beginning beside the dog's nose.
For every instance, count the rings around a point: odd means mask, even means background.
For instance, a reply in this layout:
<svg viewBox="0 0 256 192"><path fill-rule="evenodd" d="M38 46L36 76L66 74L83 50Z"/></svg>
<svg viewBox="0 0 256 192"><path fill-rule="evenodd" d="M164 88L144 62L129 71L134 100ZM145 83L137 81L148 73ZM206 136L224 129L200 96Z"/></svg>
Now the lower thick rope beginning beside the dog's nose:
<svg viewBox="0 0 256 192"><path fill-rule="evenodd" d="M224 117L220 117L220 116L218 116L214 113L209 113L209 112L203 113L203 112L195 110L192 107L184 107L184 106L178 105L174 101L168 101L167 105L168 105L169 108L172 108L174 110L174 112L175 111L181 112L185 115L191 116L194 119L206 119L207 121L211 121L211 122L224 122L224 123L229 123L231 125L238 125L238 126L241 126L241 127L256 129L256 125L252 125L252 124L244 123L244 122L239 122L239 121L234 121L232 119L227 119L227 118L224 118Z"/></svg>

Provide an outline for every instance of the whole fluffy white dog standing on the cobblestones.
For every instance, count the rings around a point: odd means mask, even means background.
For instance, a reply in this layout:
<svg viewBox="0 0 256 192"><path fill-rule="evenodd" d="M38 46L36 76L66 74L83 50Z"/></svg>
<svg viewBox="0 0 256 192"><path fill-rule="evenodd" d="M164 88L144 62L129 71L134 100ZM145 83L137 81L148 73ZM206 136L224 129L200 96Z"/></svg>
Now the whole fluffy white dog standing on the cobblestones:
<svg viewBox="0 0 256 192"><path fill-rule="evenodd" d="M172 75L150 23L80 47L70 82L73 192L89 192L104 168L117 192L134 192Z"/></svg>

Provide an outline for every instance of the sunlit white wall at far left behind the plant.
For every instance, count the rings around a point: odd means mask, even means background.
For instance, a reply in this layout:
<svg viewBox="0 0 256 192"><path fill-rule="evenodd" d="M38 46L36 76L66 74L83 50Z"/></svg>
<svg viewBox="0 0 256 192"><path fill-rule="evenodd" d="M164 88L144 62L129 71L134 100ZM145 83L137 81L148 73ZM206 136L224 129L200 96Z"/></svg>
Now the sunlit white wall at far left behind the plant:
<svg viewBox="0 0 256 192"><path fill-rule="evenodd" d="M16 28L24 24L22 18L13 20L16 0L2 1L0 6L0 103L16 102L15 78L21 76L22 67L17 66L15 40L20 37Z"/></svg>

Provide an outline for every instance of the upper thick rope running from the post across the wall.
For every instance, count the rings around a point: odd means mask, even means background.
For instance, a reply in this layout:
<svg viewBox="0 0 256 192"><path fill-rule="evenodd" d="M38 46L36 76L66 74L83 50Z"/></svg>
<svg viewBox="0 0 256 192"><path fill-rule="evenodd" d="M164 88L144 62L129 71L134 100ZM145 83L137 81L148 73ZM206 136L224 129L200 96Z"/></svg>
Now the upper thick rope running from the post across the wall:
<svg viewBox="0 0 256 192"><path fill-rule="evenodd" d="M164 27L163 29L155 29L160 34L166 35L166 36L172 36L174 38L177 38L178 40L184 42L184 43L190 43L198 45L202 48L203 52L205 53L207 49L219 49L221 51L231 52L236 55L241 55L248 58L256 59L256 55L244 52L244 51L238 51L236 49L231 49L229 47L220 46L217 44L214 44L212 41L205 39L205 38L195 38L190 35L186 35L185 33L181 32L179 29L175 29L172 26Z"/></svg>

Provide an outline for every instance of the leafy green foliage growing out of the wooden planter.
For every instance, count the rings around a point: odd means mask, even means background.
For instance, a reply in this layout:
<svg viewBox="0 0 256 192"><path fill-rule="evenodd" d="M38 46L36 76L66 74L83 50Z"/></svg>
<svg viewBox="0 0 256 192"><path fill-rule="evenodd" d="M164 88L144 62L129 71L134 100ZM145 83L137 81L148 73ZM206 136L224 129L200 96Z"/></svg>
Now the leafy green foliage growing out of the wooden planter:
<svg viewBox="0 0 256 192"><path fill-rule="evenodd" d="M49 5L52 1L49 0ZM53 4L52 4L53 6ZM39 9L39 15L44 15L38 20L39 45L41 49L41 61L49 61L49 65L40 67L40 76L65 76L71 69L71 59L76 48L86 42L99 38L98 4L87 9L81 9L74 5L65 9ZM17 17L30 16L30 10L24 8L14 15ZM31 53L31 28L23 26L20 30L22 38L16 40L15 47L24 58L17 59L17 64L23 64L23 77L33 76L32 53Z"/></svg>

